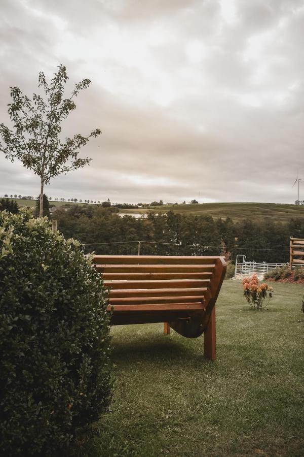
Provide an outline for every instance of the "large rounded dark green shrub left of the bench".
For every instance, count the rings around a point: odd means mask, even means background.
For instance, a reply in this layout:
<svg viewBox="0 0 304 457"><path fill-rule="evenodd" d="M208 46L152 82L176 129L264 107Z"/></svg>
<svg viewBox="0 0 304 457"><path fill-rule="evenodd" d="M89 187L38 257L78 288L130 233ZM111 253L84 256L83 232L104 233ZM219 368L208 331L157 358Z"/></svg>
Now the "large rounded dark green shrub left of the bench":
<svg viewBox="0 0 304 457"><path fill-rule="evenodd" d="M0 213L0 440L65 455L109 405L107 292L81 245L47 218Z"/></svg>

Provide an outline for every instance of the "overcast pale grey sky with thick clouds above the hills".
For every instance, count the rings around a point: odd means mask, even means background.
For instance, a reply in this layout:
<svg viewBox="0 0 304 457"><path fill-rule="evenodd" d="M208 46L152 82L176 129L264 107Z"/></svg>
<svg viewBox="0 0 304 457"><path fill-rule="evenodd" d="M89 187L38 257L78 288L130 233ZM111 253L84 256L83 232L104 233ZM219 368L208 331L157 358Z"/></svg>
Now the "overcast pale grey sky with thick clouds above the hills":
<svg viewBox="0 0 304 457"><path fill-rule="evenodd" d="M1 0L0 123L63 63L92 80L63 135L102 135L55 198L293 203L304 181L303 0ZM39 194L0 156L0 196ZM300 188L304 199L304 184Z"/></svg>

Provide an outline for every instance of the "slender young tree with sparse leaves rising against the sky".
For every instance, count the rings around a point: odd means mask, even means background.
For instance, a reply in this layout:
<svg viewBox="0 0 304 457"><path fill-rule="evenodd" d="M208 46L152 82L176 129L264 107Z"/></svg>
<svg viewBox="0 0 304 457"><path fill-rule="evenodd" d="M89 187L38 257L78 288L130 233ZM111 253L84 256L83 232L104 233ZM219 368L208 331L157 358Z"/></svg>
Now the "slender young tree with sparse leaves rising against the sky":
<svg viewBox="0 0 304 457"><path fill-rule="evenodd" d="M89 136L80 134L72 138L60 139L61 122L76 108L73 101L79 92L86 89L91 81L83 79L75 84L69 98L64 99L64 86L68 79L66 68L60 64L57 73L48 84L45 74L39 74L39 87L42 87L46 100L40 94L33 94L32 100L22 95L18 87L11 87L12 103L9 104L9 116L14 129L0 124L0 151L12 162L19 159L22 165L40 177L40 216L43 215L44 185L51 178L71 170L89 165L91 159L79 158L79 149L85 146L91 137L101 134L99 128Z"/></svg>

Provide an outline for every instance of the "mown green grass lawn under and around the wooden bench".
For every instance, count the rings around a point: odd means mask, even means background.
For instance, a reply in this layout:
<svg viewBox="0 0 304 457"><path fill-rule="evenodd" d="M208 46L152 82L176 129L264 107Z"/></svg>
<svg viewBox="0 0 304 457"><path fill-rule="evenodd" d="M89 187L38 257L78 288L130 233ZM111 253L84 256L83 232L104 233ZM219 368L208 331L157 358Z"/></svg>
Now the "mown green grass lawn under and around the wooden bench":
<svg viewBox="0 0 304 457"><path fill-rule="evenodd" d="M112 328L111 411L75 455L303 455L304 287L274 288L257 312L241 282L224 281L215 363L203 337L165 336L162 324Z"/></svg>

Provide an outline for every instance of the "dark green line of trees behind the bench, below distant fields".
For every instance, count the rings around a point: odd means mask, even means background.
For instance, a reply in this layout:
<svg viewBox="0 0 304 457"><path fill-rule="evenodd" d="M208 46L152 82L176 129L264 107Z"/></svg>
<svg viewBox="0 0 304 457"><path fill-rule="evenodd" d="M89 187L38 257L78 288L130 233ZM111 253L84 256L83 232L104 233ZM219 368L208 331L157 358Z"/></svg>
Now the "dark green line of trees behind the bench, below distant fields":
<svg viewBox="0 0 304 457"><path fill-rule="evenodd" d="M288 262L289 238L304 238L304 218L288 223L212 216L149 213L146 218L120 217L115 208L75 205L58 208L58 229L85 244L86 253L143 255L226 255L233 262L245 254L255 262ZM116 210L117 211L117 210ZM163 243L163 244L162 244ZM174 244L174 245L173 245Z"/></svg>

